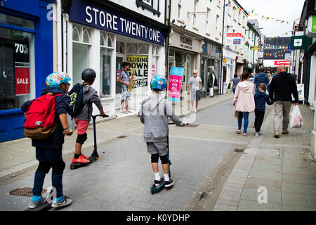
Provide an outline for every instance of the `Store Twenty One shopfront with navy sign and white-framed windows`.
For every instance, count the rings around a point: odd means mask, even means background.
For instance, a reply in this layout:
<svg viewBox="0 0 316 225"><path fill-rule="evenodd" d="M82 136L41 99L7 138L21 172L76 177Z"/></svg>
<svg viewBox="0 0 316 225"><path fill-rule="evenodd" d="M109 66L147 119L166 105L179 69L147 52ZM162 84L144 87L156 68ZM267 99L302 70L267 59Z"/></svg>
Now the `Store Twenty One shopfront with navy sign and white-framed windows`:
<svg viewBox="0 0 316 225"><path fill-rule="evenodd" d="M120 108L121 85L117 82L122 63L131 63L134 73L129 108L136 110L150 91L153 75L164 74L164 39L166 25L159 24L111 2L95 6L88 1L73 0L67 27L67 72L74 84L81 83L85 68L96 70L93 88L100 93L105 112ZM117 13L124 11L124 14ZM137 15L137 16L136 16ZM97 109L95 109L97 110Z"/></svg>

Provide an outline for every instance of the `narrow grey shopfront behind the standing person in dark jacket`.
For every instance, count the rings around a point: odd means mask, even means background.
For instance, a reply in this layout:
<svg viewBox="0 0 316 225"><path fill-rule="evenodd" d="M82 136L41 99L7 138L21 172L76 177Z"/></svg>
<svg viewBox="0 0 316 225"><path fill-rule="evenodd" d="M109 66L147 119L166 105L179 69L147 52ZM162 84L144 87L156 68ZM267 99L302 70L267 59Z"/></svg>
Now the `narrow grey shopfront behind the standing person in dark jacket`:
<svg viewBox="0 0 316 225"><path fill-rule="evenodd" d="M201 79L202 85L205 91L208 91L207 79L211 75L212 71L215 70L215 76L219 82L220 76L220 54L222 52L222 46L209 39L204 39L202 60L201 60ZM219 84L218 84L219 85ZM214 87L214 90L218 90L218 86ZM214 94L217 92L214 91Z"/></svg>

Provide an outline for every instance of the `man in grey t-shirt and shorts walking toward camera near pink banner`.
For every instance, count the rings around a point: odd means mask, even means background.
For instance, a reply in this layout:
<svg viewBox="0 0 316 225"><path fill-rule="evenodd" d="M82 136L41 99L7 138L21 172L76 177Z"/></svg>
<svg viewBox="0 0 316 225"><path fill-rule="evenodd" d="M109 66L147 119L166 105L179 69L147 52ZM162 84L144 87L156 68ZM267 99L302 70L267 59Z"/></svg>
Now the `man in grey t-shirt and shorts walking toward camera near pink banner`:
<svg viewBox="0 0 316 225"><path fill-rule="evenodd" d="M193 70L193 77L189 80L189 86L187 87L187 94L190 94L191 89L191 111L197 112L197 106L201 100L202 79L197 76L197 70ZM195 103L195 105L194 105Z"/></svg>

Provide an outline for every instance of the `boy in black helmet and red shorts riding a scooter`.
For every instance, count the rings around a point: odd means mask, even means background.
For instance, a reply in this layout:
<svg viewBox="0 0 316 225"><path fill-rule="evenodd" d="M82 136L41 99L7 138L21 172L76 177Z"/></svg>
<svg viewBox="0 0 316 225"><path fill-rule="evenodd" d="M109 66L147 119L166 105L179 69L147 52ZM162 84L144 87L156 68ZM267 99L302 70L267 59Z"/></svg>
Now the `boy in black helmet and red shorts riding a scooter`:
<svg viewBox="0 0 316 225"><path fill-rule="evenodd" d="M87 164L90 162L90 160L88 160L88 157L86 155L81 153L81 148L86 139L88 139L86 129L88 129L88 125L91 120L93 110L92 103L96 104L98 110L100 110L100 117L108 117L108 115L104 113L103 105L101 103L100 97L98 96L98 92L91 86L96 79L96 71L91 68L87 68L81 73L81 79L84 81L84 83L76 84L81 86L81 108L78 110L77 113L72 113L72 107L70 106L69 112L70 115L72 115L72 117L74 118L74 122L77 126L77 140L74 146L74 158L72 158L72 162ZM72 91L74 87L72 88ZM70 91L71 97L72 91Z"/></svg>

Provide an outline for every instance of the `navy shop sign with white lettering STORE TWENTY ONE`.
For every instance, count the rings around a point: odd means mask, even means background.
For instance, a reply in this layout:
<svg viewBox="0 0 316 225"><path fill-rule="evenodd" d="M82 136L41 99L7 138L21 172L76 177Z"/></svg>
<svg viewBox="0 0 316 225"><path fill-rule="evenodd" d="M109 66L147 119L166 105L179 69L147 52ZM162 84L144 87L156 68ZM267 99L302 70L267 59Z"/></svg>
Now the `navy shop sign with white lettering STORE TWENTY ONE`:
<svg viewBox="0 0 316 225"><path fill-rule="evenodd" d="M154 44L164 45L164 32L84 1L72 1L70 21Z"/></svg>

